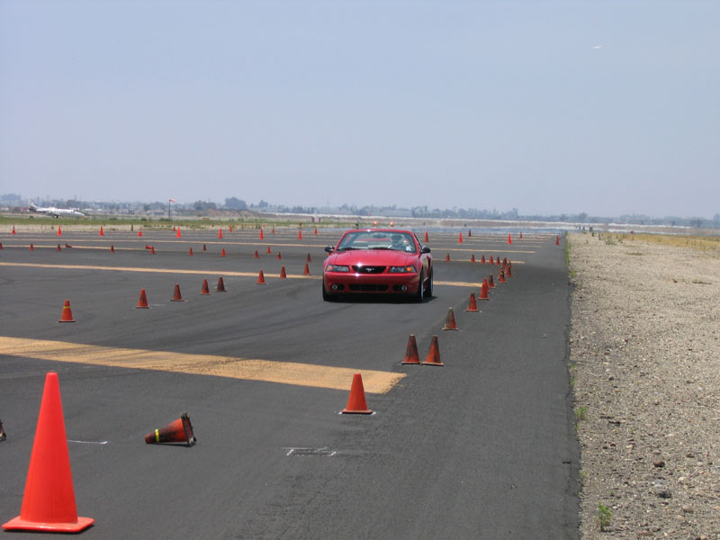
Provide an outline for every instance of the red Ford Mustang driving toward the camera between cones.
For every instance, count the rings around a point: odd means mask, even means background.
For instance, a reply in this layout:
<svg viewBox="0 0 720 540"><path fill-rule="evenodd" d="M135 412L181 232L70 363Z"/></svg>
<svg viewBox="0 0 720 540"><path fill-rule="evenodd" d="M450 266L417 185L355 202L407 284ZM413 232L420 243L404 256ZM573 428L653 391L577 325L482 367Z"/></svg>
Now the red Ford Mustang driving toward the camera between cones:
<svg viewBox="0 0 720 540"><path fill-rule="evenodd" d="M433 294L433 259L410 230L348 230L325 251L322 299L340 294L398 294L423 302Z"/></svg>

